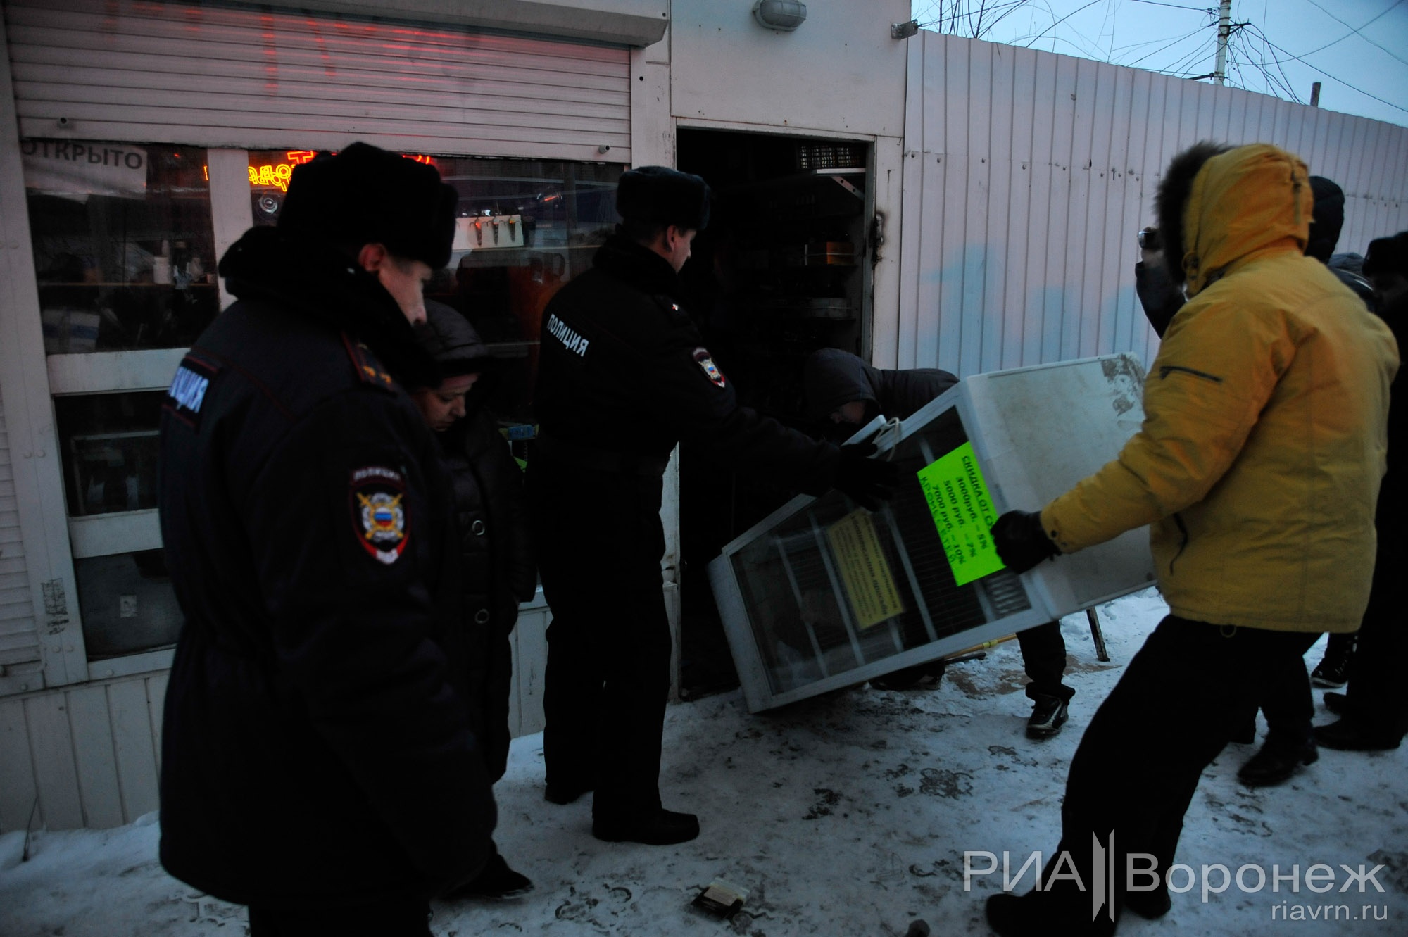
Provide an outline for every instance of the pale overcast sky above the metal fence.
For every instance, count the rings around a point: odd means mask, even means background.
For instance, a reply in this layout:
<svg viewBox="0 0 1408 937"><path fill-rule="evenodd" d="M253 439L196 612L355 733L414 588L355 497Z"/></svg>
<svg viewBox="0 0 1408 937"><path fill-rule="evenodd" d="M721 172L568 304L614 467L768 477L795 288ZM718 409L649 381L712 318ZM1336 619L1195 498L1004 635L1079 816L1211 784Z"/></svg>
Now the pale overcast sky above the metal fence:
<svg viewBox="0 0 1408 937"><path fill-rule="evenodd" d="M1215 0L914 0L914 17L987 7L983 35L1195 77L1217 51ZM1005 15L1002 15L1005 14ZM991 23L997 20L995 25ZM1228 84L1408 127L1408 0L1233 0ZM943 32L973 35L976 15ZM1304 60L1298 60L1304 59Z"/></svg>

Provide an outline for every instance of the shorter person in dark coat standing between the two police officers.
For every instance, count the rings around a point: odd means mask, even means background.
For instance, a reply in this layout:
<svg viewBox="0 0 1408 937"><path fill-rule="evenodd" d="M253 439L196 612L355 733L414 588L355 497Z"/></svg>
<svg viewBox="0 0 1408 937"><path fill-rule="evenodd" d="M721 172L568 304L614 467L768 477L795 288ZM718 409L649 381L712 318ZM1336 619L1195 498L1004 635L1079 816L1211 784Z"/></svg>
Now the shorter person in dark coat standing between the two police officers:
<svg viewBox="0 0 1408 937"><path fill-rule="evenodd" d="M508 694L513 684L510 635L518 604L538 589L522 471L486 405L493 359L469 321L444 302L427 300L417 338L439 366L439 383L411 398L435 431L449 470L460 543L460 588L470 656L474 733L490 781L508 767ZM514 898L532 889L496 850L484 869L452 898Z"/></svg>

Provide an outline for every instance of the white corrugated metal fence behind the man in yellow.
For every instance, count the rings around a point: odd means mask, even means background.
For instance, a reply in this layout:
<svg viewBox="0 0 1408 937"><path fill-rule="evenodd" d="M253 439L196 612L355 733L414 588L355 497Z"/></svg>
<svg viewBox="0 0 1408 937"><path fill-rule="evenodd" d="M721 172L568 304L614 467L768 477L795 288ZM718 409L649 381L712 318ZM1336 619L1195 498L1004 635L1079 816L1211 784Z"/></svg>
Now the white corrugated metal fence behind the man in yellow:
<svg viewBox="0 0 1408 937"><path fill-rule="evenodd" d="M898 310L876 364L974 374L1135 352L1135 232L1200 139L1271 142L1345 190L1339 249L1408 228L1408 128L1264 94L924 32L910 41Z"/></svg>

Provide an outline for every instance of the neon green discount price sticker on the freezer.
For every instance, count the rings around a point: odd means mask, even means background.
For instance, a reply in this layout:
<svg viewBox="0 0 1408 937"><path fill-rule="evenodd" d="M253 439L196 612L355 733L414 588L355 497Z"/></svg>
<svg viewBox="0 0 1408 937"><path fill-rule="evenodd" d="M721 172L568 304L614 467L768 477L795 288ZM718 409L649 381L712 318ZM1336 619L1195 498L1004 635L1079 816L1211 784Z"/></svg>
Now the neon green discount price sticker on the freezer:
<svg viewBox="0 0 1408 937"><path fill-rule="evenodd" d="M953 581L966 585L1005 568L993 544L997 509L987 495L973 443L963 443L917 474Z"/></svg>

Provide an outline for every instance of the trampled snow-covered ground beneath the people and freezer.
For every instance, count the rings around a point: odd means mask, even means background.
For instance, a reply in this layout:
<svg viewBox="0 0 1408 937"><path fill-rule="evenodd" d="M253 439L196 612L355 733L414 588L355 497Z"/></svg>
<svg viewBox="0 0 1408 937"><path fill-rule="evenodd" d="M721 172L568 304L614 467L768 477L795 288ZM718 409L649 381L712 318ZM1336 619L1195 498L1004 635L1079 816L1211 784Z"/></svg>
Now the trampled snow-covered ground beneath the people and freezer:
<svg viewBox="0 0 1408 937"><path fill-rule="evenodd" d="M1063 622L1077 696L1071 723L1048 741L1022 734L1029 705L1015 642L952 665L938 689L856 688L760 716L748 715L738 692L672 706L662 791L666 806L703 822L700 839L677 847L594 840L587 799L542 801L542 737L518 739L497 788L498 843L536 889L511 902L436 905L432 929L438 937L880 937L924 919L938 936L986 934L983 902L1002 886L1001 867L974 875L966 892L964 851L1005 850L1015 874L1032 850L1055 847L1084 723L1163 612L1152 591L1104 606L1110 664L1095 661L1084 615ZM1178 718L1177 699L1166 716ZM1129 916L1119 933L1408 934L1408 747L1322 751L1287 785L1262 791L1236 782L1252 751L1229 746L1188 810L1178 858L1198 877L1193 891L1174 895L1163 920ZM155 816L115 830L37 833L21 862L23 834L0 837L0 934L242 934L244 909L166 877L156 840ZM1308 889L1305 872L1318 862L1333 871L1332 891ZM1360 893L1340 864L1383 865L1384 892ZM1232 881L1204 902L1202 865L1233 875L1256 865L1267 879L1256 892ZM1290 881L1273 892L1271 865L1283 874L1300 865L1300 892ZM715 878L752 889L731 922L690 906ZM1214 889L1224 881L1217 869L1205 879ZM1257 872L1245 871L1243 882L1256 888Z"/></svg>

